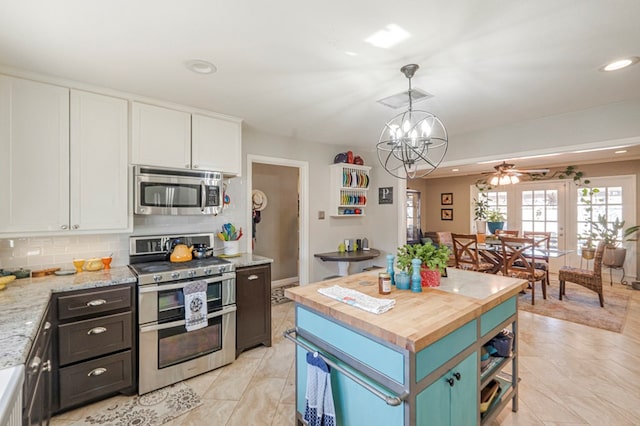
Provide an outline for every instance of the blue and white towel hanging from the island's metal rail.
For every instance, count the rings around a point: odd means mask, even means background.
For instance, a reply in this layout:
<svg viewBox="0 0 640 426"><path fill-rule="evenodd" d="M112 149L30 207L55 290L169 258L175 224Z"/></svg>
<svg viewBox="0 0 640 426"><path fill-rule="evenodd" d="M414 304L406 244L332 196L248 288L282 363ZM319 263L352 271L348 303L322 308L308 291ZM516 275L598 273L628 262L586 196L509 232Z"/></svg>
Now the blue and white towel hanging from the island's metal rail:
<svg viewBox="0 0 640 426"><path fill-rule="evenodd" d="M335 426L336 409L331 391L331 370L317 353L307 352L307 406L304 419L309 426Z"/></svg>

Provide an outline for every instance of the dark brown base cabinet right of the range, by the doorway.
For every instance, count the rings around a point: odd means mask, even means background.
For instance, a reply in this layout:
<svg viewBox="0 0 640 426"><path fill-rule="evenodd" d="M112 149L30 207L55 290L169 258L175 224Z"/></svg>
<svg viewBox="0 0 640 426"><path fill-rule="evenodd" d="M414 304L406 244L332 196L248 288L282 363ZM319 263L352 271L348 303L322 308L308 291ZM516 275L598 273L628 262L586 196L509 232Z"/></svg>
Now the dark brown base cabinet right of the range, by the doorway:
<svg viewBox="0 0 640 426"><path fill-rule="evenodd" d="M236 356L271 346L271 264L236 269Z"/></svg>

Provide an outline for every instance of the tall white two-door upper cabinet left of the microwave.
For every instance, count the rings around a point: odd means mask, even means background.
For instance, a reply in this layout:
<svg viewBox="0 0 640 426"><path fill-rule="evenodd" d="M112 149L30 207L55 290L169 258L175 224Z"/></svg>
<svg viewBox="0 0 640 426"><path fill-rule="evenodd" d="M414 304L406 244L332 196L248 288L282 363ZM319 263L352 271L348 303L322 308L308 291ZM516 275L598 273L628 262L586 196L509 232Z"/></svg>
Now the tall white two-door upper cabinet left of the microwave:
<svg viewBox="0 0 640 426"><path fill-rule="evenodd" d="M124 99L0 76L0 235L131 230L127 136Z"/></svg>

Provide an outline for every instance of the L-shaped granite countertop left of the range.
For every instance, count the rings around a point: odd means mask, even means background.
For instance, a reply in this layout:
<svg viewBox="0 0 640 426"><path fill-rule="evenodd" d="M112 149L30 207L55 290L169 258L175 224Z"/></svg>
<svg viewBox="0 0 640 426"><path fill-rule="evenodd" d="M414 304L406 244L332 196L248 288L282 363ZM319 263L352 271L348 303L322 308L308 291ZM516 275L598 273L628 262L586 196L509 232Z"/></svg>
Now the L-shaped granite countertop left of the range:
<svg viewBox="0 0 640 426"><path fill-rule="evenodd" d="M24 364L52 293L135 283L129 267L15 280L0 291L0 369Z"/></svg>

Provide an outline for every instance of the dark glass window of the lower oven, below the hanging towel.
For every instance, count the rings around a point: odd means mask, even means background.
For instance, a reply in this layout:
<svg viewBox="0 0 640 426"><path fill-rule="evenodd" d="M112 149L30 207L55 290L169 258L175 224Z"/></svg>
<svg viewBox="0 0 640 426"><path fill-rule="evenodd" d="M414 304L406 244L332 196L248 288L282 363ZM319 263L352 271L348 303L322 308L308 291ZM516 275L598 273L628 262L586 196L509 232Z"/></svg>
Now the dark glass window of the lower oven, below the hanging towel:
<svg viewBox="0 0 640 426"><path fill-rule="evenodd" d="M222 316L209 325L187 331L184 325L158 330L158 369L180 364L222 349Z"/></svg>

